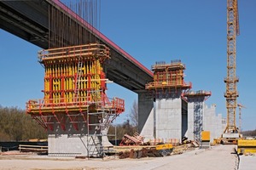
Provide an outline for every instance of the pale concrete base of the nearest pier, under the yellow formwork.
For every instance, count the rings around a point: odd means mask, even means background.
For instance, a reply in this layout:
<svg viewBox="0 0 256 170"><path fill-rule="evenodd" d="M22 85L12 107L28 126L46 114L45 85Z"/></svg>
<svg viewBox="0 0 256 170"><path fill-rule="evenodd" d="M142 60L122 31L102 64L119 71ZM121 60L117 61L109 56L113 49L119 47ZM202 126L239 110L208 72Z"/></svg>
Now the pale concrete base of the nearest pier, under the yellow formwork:
<svg viewBox="0 0 256 170"><path fill-rule="evenodd" d="M86 122L83 122L82 117L76 120L79 126L79 130L73 127L73 124L69 121L67 116L63 118L66 120L65 127L63 130L59 123L54 120L54 130L48 130L48 147L49 156L100 156L102 145L109 145L108 129L96 130L96 127L91 126L89 135ZM98 122L97 116L90 116L90 123ZM105 136L93 135L102 134Z"/></svg>

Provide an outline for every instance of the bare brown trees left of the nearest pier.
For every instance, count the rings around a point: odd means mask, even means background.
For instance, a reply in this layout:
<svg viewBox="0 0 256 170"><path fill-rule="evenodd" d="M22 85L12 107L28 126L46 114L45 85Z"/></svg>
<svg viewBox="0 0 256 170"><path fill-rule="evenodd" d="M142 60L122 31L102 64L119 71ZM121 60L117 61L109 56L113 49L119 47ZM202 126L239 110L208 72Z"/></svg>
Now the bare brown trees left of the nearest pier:
<svg viewBox="0 0 256 170"><path fill-rule="evenodd" d="M27 141L46 139L46 130L17 107L0 105L0 141Z"/></svg>

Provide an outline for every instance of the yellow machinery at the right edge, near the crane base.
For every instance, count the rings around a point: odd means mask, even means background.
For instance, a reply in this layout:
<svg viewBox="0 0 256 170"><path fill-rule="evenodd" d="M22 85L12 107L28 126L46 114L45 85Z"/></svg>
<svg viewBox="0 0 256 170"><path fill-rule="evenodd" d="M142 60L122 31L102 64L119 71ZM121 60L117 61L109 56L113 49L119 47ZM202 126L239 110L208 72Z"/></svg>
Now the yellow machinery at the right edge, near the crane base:
<svg viewBox="0 0 256 170"><path fill-rule="evenodd" d="M237 153L240 155L256 153L256 139L239 139L237 142Z"/></svg>

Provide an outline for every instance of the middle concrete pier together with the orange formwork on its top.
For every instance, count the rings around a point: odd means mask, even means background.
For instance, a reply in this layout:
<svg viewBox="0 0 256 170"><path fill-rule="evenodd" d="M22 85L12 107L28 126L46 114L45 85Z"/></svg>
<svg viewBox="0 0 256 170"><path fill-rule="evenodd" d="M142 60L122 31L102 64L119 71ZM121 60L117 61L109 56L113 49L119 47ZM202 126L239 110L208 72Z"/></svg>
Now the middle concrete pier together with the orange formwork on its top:
<svg viewBox="0 0 256 170"><path fill-rule="evenodd" d="M185 65L181 60L171 63L156 62L152 65L154 82L148 82L145 88L154 98L154 108L149 113L141 135L146 139L179 141L187 131L187 102L182 98L183 91L192 87L184 82Z"/></svg>

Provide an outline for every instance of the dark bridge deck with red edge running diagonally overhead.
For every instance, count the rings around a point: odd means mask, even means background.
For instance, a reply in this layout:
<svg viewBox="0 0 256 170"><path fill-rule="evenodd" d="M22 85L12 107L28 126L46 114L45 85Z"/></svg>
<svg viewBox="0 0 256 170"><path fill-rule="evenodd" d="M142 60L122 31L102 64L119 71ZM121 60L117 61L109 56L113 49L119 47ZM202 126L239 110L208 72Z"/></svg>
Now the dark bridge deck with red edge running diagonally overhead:
<svg viewBox="0 0 256 170"><path fill-rule="evenodd" d="M104 65L109 80L136 93L143 91L147 82L152 82L151 71L60 1L1 1L0 28L41 48L48 48L49 8L57 8L63 14L67 14L72 20L84 26L86 35L97 38L98 42L110 48L111 59Z"/></svg>

